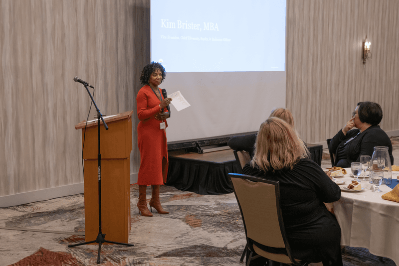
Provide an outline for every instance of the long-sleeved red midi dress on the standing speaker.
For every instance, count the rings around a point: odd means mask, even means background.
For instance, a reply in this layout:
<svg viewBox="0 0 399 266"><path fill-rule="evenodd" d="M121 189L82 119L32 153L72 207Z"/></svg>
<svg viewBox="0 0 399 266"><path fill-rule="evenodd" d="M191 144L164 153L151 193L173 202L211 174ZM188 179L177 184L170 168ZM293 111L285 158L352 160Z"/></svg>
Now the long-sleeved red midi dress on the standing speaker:
<svg viewBox="0 0 399 266"><path fill-rule="evenodd" d="M161 99L162 93L160 92ZM163 121L155 119L160 113L161 104L157 95L149 85L140 89L136 97L137 116L140 120L137 126L137 140L140 150L140 169L137 184L163 185L168 174L168 146L166 130L160 129ZM166 112L166 108L164 108ZM166 122L166 120L164 120ZM166 123L168 127L168 123ZM162 159L166 163L162 165Z"/></svg>

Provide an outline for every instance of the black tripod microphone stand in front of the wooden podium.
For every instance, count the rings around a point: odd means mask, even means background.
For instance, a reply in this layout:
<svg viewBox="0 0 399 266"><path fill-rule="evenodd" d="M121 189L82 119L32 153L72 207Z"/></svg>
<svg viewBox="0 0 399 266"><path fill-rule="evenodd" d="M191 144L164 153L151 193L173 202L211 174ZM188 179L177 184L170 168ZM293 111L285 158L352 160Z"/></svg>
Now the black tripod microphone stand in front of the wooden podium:
<svg viewBox="0 0 399 266"><path fill-rule="evenodd" d="M119 242L114 242L114 241L108 241L105 240L105 234L102 233L102 229L101 229L101 152L100 152L100 121L103 122L104 128L105 130L108 130L108 126L107 124L105 124L104 119L103 119L103 115L101 114L100 110L98 109L96 102L94 102L93 96L91 95L89 89L87 88L87 85L84 85L84 87L86 88L87 93L90 96L91 101L94 104L94 107L97 110L97 119L98 119L98 155L97 155L97 159L98 159L98 235L97 235L97 239L93 240L93 241L88 241L88 242L84 242L84 243L79 243L79 244L73 244L73 245L68 245L68 248L73 248L73 247L77 247L77 246L82 246L82 245L87 245L87 244L91 244L91 243L98 243L98 255L97 255L97 264L100 264L100 254L101 254L101 245L103 243L111 243L111 244L118 244L118 245L124 245L124 246L128 246L128 247L133 247L133 244L127 244L127 243L119 243Z"/></svg>

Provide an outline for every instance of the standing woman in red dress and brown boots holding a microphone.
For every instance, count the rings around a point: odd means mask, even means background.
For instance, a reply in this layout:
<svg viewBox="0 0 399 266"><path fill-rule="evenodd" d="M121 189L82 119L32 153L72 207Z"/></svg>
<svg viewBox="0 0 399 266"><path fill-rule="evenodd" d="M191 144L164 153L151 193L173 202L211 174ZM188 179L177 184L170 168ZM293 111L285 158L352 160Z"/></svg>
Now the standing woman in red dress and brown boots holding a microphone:
<svg viewBox="0 0 399 266"><path fill-rule="evenodd" d="M165 79L166 71L160 63L151 62L141 72L140 81L145 86L137 94L137 139L140 150L139 202L137 207L143 216L153 216L147 207L146 189L151 185L150 207L167 214L159 199L160 185L166 183L168 174L168 146L166 119L170 118L166 107L171 98L163 98L158 87Z"/></svg>

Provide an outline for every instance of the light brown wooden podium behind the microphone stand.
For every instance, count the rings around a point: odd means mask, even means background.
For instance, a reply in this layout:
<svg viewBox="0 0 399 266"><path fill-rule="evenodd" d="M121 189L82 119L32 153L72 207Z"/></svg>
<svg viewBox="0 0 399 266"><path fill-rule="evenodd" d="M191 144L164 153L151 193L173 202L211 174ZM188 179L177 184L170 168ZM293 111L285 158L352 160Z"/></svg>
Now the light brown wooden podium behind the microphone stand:
<svg viewBox="0 0 399 266"><path fill-rule="evenodd" d="M104 118L100 128L101 224L109 241L128 243L130 232L130 152L133 111ZM102 124L102 122L101 122ZM86 121L75 126L82 130ZM98 124L87 123L83 150L85 240L98 235ZM95 244L95 243L94 243Z"/></svg>

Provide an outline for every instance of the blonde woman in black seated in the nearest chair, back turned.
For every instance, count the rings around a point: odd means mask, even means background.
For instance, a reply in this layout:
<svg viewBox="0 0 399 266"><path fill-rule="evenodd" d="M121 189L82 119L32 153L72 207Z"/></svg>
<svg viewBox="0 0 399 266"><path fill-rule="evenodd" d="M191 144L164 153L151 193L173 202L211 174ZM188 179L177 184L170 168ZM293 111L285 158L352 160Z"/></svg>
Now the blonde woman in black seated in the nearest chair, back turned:
<svg viewBox="0 0 399 266"><path fill-rule="evenodd" d="M342 266L341 228L323 203L339 200L341 190L306 154L295 130L272 117L260 126L254 157L242 173L280 182L283 221L295 259Z"/></svg>

